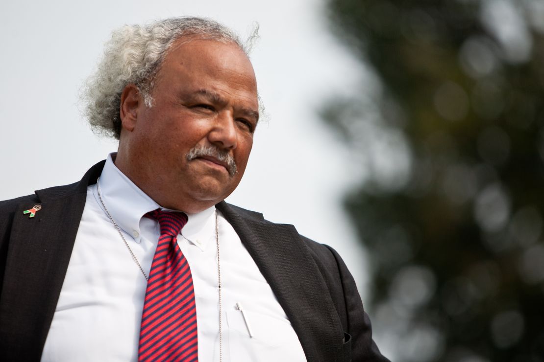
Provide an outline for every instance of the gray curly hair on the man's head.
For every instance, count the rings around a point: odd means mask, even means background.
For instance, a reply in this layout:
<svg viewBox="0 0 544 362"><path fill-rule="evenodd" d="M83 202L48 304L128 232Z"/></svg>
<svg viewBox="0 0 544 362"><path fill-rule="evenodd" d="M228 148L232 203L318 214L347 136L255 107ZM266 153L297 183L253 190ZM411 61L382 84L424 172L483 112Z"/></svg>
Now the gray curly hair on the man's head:
<svg viewBox="0 0 544 362"><path fill-rule="evenodd" d="M86 82L82 100L84 114L97 134L119 139L121 93L127 84L134 84L148 107L153 106L150 93L166 53L182 36L234 43L249 54L258 38L258 26L242 43L236 33L220 23L202 17L177 17L154 21L145 26L126 25L113 31L106 43L98 69Z"/></svg>

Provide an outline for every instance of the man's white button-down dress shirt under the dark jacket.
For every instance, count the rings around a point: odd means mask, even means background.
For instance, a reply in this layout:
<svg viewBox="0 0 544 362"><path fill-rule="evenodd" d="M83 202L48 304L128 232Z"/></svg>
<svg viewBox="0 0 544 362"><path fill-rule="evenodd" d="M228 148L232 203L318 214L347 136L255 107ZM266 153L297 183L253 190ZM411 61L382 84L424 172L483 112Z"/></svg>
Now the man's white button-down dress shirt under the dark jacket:
<svg viewBox="0 0 544 362"><path fill-rule="evenodd" d="M149 274L160 229L144 214L160 206L120 172L112 155L99 181L102 200ZM177 240L193 275L199 361L219 361L215 207L188 217ZM306 361L270 285L219 212L218 220L223 361ZM137 361L146 285L96 185L89 186L42 361ZM242 304L252 337L236 303Z"/></svg>

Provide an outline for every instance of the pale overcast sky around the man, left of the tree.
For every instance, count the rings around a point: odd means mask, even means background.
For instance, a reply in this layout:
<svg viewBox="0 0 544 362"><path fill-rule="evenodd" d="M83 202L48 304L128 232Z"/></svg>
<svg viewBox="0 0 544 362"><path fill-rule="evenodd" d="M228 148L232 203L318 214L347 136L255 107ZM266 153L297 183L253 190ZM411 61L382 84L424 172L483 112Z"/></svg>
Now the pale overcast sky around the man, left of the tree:
<svg viewBox="0 0 544 362"><path fill-rule="evenodd" d="M243 37L258 22L251 60L269 122L259 124L250 162L228 202L329 244L360 287L363 253L341 207L357 170L319 119L324 101L360 80L329 33L320 0L5 1L0 14L0 200L75 182L116 150L90 131L79 89L112 29L158 18L199 15Z"/></svg>

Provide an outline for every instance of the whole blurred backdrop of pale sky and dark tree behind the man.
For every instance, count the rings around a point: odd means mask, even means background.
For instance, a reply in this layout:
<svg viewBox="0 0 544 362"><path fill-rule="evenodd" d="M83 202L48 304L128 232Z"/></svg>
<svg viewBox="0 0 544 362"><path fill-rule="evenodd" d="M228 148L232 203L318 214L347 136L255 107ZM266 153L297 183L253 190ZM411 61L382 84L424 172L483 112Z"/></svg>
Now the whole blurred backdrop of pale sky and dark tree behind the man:
<svg viewBox="0 0 544 362"><path fill-rule="evenodd" d="M112 29L256 21L267 121L227 201L335 247L392 361L544 361L544 0L2 8L0 199L116 149L78 111Z"/></svg>

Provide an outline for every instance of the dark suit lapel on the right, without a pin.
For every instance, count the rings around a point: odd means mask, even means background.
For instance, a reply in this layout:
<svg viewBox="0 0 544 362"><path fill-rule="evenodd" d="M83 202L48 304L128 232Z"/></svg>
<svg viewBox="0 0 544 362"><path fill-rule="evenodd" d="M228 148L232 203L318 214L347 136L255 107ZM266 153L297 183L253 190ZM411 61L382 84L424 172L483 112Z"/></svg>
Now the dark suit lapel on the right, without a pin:
<svg viewBox="0 0 544 362"><path fill-rule="evenodd" d="M342 360L343 329L310 250L293 225L242 215L225 202L231 223L289 317L309 361ZM248 212L245 212L248 213Z"/></svg>

